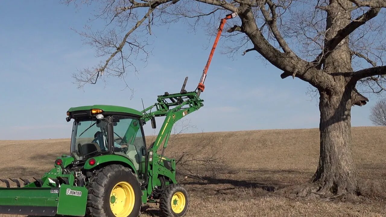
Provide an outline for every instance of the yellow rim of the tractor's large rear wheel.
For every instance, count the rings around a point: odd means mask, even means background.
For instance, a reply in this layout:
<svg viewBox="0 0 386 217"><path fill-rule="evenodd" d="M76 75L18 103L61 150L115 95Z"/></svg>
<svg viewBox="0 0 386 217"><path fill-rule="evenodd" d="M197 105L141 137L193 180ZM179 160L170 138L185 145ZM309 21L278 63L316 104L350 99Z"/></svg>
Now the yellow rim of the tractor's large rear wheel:
<svg viewBox="0 0 386 217"><path fill-rule="evenodd" d="M121 181L110 193L110 208L116 217L127 217L134 209L135 195L133 187Z"/></svg>

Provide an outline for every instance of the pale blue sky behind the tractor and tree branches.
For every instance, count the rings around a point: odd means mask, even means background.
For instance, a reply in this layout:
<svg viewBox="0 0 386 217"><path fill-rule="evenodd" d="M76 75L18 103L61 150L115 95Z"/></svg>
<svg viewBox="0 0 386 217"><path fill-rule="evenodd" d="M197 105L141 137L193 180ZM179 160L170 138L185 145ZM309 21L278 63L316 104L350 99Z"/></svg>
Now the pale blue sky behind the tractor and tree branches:
<svg viewBox="0 0 386 217"><path fill-rule="evenodd" d="M137 76L127 75L134 98L122 91L119 80L81 90L72 83L71 74L94 66L98 59L70 27L82 30L91 8L75 10L51 0L1 1L0 8L0 139L67 138L71 134L71 123L65 121L68 108L112 104L141 110L141 98L147 106L156 102L157 95L178 92L185 76L189 76L186 90L194 90L209 53L210 38L203 31L189 33L183 23L155 27L147 67L141 67ZM196 125L192 132L318 127L319 110L305 94L307 83L282 80L281 71L257 60L257 53L231 60L220 54L221 49L201 94L204 107L187 117ZM371 125L368 116L375 100L352 109L353 126ZM150 126L146 130L154 133Z"/></svg>

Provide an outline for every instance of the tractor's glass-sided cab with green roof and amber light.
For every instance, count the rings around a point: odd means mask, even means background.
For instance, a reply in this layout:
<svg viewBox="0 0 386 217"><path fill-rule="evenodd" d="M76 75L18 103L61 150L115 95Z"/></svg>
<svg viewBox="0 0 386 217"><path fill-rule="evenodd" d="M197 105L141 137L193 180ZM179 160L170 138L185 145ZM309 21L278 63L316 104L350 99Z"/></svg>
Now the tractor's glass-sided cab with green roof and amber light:
<svg viewBox="0 0 386 217"><path fill-rule="evenodd" d="M71 156L76 161L115 154L129 159L136 171L144 171L146 142L141 112L93 105L70 108L67 115L68 121L74 119Z"/></svg>

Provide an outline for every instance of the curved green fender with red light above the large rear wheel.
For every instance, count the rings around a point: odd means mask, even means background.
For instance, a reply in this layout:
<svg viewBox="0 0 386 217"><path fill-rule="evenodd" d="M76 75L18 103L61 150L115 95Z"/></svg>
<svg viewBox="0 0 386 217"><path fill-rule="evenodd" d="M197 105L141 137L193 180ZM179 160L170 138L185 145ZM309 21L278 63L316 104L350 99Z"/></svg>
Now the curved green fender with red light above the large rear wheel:
<svg viewBox="0 0 386 217"><path fill-rule="evenodd" d="M92 166L89 163L90 159L95 159L95 164ZM133 171L133 173L138 175L138 172L135 170L134 164L124 156L108 154L108 155L97 156L90 159L86 161L85 166L83 167L85 170L91 170L93 168L102 168L111 164L120 164L122 166L129 168L130 170Z"/></svg>

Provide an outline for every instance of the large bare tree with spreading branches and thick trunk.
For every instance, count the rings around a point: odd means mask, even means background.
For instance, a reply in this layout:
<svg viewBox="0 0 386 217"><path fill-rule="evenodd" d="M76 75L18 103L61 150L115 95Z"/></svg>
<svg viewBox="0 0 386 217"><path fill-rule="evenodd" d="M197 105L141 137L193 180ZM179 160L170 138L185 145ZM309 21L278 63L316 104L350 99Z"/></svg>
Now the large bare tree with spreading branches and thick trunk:
<svg viewBox="0 0 386 217"><path fill-rule="evenodd" d="M80 1L80 2L79 2ZM66 0L66 3L91 0ZM225 52L252 54L276 66L281 78L299 78L319 94L320 159L310 183L298 195L360 194L351 147L351 107L365 105L360 92L381 93L386 51L381 8L385 0L93 0L105 31L82 35L106 62L81 70L76 82L95 83L98 76L122 77L133 54L146 60L145 42L154 25L188 21L194 30L213 30L230 12ZM109 29L110 28L110 29ZM115 30L115 31L112 31ZM134 52L134 53L133 53ZM253 63L251 63L253 64ZM136 69L132 68L132 71ZM358 91L359 90L359 91Z"/></svg>

